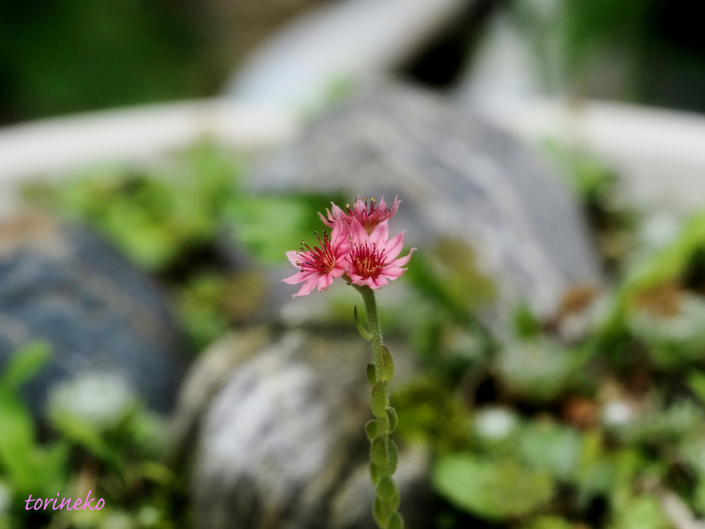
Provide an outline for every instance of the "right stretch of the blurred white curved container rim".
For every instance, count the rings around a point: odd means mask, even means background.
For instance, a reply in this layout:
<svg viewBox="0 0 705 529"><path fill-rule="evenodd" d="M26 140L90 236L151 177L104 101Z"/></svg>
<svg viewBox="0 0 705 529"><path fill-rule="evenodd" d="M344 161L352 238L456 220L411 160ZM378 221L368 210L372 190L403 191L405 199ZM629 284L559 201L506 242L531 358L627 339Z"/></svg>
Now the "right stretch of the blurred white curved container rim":
<svg viewBox="0 0 705 529"><path fill-rule="evenodd" d="M550 99L488 102L482 115L534 144L596 155L620 176L628 202L673 213L705 205L705 117L699 114Z"/></svg>

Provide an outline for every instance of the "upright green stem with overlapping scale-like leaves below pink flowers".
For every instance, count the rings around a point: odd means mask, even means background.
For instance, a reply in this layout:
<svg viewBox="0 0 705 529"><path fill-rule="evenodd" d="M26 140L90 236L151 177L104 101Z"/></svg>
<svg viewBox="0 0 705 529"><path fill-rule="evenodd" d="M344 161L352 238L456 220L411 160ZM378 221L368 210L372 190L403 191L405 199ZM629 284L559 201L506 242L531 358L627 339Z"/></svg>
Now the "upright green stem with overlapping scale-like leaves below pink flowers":
<svg viewBox="0 0 705 529"><path fill-rule="evenodd" d="M394 364L389 351L382 344L382 329L374 291L369 286L353 286L362 295L367 311L369 329L361 329L360 334L372 343L374 354L374 370L368 369L367 377L372 385L372 413L375 418L365 427L370 442L369 473L376 488L372 513L380 529L402 529L404 522L397 511L399 491L392 480L399 452L396 444L389 438L397 422L396 411L389 406L387 391L387 382L394 374ZM355 317L357 318L357 312Z"/></svg>

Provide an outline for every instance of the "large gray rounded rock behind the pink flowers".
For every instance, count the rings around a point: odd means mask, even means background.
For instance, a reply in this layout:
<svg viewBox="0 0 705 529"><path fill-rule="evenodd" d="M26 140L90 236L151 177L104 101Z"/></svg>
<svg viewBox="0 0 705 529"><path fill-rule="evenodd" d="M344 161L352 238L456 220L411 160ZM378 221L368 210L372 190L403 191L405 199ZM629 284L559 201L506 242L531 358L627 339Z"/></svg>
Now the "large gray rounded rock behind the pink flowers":
<svg viewBox="0 0 705 529"><path fill-rule="evenodd" d="M408 245L475 248L498 286L496 329L517 303L552 315L572 286L601 274L575 200L534 152L436 95L398 85L329 109L266 159L259 190L399 195ZM281 289L282 300L291 288Z"/></svg>

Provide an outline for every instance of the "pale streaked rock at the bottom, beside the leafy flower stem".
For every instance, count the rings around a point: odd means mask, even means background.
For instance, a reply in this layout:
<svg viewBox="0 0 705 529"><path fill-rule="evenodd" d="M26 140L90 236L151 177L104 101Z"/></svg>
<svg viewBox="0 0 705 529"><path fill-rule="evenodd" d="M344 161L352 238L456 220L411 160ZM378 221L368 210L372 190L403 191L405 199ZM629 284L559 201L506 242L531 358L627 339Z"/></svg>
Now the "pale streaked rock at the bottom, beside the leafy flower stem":
<svg viewBox="0 0 705 529"><path fill-rule="evenodd" d="M253 329L215 343L195 364L175 418L185 452L198 432L197 527L373 528L370 356L359 336L302 331ZM404 365L397 379L408 376ZM429 497L424 451L402 449L397 478L402 512L413 512Z"/></svg>

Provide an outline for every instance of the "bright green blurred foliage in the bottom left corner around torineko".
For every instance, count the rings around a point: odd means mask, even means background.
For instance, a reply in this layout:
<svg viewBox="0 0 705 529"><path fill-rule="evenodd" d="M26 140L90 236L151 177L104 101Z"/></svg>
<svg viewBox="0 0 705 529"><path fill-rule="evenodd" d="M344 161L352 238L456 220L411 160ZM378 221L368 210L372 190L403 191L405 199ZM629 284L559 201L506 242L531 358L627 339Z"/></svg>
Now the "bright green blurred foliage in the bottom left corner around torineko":
<svg viewBox="0 0 705 529"><path fill-rule="evenodd" d="M183 491L173 470L163 462L164 419L125 401L111 422L80 417L71 408L49 413L51 434L42 428L37 439L34 419L18 396L26 379L49 358L49 346L28 343L13 355L0 379L0 528L173 528L181 525ZM25 510L25 500L85 498L88 491L103 498L96 511Z"/></svg>

